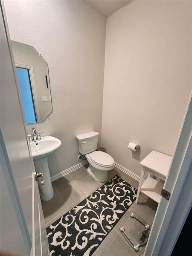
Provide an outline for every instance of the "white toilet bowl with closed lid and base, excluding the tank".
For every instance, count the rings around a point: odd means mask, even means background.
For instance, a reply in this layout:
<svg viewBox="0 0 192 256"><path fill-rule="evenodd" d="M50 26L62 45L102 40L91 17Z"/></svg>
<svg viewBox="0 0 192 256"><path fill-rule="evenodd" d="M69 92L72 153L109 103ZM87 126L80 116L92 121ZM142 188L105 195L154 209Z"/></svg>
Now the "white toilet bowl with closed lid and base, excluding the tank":
<svg viewBox="0 0 192 256"><path fill-rule="evenodd" d="M113 157L102 151L93 151L90 154L86 154L85 157L89 163L87 171L89 174L104 182L108 179L108 171L112 170L115 164Z"/></svg>

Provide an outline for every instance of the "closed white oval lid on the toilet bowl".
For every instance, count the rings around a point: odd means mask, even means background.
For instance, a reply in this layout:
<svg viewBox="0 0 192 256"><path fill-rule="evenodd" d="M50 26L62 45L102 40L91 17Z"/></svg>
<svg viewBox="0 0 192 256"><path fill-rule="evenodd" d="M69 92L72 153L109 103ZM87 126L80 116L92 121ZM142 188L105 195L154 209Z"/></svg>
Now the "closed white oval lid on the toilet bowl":
<svg viewBox="0 0 192 256"><path fill-rule="evenodd" d="M112 166L114 164L113 157L102 151L94 151L93 154L90 154L90 159L99 166Z"/></svg>

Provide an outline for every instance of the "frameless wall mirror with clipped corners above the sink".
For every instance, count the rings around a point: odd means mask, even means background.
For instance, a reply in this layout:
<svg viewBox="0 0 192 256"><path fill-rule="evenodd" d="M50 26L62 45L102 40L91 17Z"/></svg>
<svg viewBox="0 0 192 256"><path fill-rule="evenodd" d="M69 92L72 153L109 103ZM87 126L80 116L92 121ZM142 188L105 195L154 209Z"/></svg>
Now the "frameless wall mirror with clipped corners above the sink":
<svg viewBox="0 0 192 256"><path fill-rule="evenodd" d="M34 47L12 41L26 124L43 122L52 112L48 64Z"/></svg>

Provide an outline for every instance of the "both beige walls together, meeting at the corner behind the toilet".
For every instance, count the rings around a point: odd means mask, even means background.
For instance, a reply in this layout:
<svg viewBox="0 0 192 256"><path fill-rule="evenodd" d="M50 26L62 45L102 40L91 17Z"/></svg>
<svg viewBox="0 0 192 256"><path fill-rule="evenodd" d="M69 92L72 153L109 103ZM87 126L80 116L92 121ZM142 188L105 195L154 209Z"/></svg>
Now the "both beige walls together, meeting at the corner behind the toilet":
<svg viewBox="0 0 192 256"><path fill-rule="evenodd" d="M62 141L51 175L79 163L76 134L101 133L101 121L102 147L137 175L151 150L173 154L192 84L190 1L131 2L108 17L106 47L105 17L84 1L5 5L11 39L49 64L53 113L28 128Z"/></svg>

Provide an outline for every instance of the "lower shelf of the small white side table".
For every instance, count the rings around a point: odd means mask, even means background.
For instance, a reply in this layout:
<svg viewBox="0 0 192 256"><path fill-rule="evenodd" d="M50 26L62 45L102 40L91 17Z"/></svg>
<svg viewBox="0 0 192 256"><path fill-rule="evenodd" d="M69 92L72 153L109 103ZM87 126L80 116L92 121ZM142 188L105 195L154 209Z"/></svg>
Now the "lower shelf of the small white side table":
<svg viewBox="0 0 192 256"><path fill-rule="evenodd" d="M155 202L159 203L161 199L161 190L163 189L163 186L164 184L160 183L158 180L154 180L153 178L148 177L141 186L140 192L147 195Z"/></svg>

